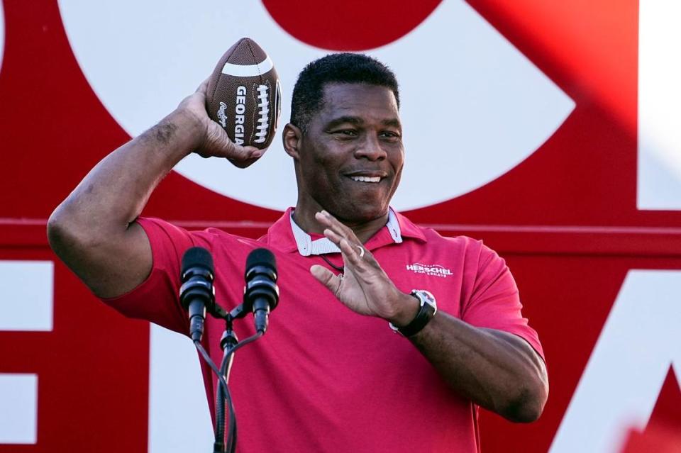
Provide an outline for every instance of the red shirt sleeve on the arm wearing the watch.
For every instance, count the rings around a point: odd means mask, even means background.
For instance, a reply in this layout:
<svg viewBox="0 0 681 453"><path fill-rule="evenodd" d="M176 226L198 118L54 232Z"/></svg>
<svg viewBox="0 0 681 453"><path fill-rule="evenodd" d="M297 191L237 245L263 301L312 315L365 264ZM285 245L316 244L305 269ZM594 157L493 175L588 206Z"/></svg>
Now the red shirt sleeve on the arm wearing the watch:
<svg viewBox="0 0 681 453"><path fill-rule="evenodd" d="M544 358L536 330L528 325L516 281L506 262L496 252L480 245L477 275L470 298L463 308L462 319L470 325L503 330L518 335Z"/></svg>

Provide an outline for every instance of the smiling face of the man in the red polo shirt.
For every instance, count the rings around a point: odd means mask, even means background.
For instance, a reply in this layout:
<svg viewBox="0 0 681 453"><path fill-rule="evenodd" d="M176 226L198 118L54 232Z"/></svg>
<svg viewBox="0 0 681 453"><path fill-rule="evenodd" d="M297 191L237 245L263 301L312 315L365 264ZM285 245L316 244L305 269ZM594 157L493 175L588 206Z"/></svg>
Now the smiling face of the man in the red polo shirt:
<svg viewBox="0 0 681 453"><path fill-rule="evenodd" d="M387 213L403 164L392 91L327 84L323 106L299 142L299 202L349 223L379 218Z"/></svg>

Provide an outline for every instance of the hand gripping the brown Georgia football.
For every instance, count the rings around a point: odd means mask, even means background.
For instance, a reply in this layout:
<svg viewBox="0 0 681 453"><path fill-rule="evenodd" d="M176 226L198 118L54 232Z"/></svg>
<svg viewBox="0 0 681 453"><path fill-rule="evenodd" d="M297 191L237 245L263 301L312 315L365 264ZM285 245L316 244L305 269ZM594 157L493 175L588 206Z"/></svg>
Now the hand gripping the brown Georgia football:
<svg viewBox="0 0 681 453"><path fill-rule="evenodd" d="M177 107L181 113L196 124L196 148L194 152L201 157L224 157L236 167L245 168L260 159L265 150L253 146L236 145L218 123L209 118L206 112L206 79L194 94L187 96Z"/></svg>

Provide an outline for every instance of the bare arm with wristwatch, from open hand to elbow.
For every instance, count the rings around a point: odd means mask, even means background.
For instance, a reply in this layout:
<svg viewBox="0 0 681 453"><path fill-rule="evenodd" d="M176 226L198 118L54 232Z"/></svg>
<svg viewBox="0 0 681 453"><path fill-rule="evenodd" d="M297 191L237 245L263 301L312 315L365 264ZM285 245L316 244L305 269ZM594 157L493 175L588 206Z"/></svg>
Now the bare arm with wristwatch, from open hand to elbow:
<svg viewBox="0 0 681 453"><path fill-rule="evenodd" d="M419 311L413 296L399 291L368 250L360 257L360 241L350 228L328 213L316 219L324 235L338 245L343 276L322 266L312 274L351 310L408 324ZM516 335L475 328L438 311L421 332L409 337L451 388L474 403L514 422L536 420L548 396L546 367L538 354Z"/></svg>

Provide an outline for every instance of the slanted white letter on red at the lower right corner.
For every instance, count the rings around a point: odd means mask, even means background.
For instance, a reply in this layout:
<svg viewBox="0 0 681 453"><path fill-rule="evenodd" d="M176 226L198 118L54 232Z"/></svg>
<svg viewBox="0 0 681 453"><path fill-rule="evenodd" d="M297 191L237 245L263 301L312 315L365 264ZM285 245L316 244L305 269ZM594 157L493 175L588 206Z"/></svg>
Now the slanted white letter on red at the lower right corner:
<svg viewBox="0 0 681 453"><path fill-rule="evenodd" d="M680 376L679 326L681 271L629 271L550 453L619 452L646 427L670 364Z"/></svg>

